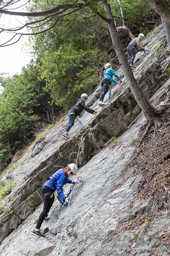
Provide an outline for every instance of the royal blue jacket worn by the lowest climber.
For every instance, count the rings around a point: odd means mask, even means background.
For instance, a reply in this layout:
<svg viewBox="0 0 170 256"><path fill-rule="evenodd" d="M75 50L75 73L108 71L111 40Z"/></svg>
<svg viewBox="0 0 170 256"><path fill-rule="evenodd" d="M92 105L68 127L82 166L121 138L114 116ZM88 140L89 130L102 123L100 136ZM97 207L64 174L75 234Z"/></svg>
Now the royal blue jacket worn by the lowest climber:
<svg viewBox="0 0 170 256"><path fill-rule="evenodd" d="M66 197L63 193L62 187L67 183L74 184L74 181L71 181L67 178L67 176L64 174L64 169L59 169L56 171L52 176L50 176L50 179L57 184L57 193L60 197L60 200L65 201ZM52 183L52 181L48 180L44 184L47 187L52 188L54 191L56 190L56 186Z"/></svg>

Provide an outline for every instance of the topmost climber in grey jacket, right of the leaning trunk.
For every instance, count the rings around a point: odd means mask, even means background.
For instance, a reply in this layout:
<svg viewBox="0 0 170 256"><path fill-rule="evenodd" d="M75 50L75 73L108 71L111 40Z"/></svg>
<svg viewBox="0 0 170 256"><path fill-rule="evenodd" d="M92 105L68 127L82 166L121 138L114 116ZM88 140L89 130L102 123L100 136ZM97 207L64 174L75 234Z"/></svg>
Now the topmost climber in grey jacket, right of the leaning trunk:
<svg viewBox="0 0 170 256"><path fill-rule="evenodd" d="M148 48L144 48L143 46L140 45L140 42L144 40L144 34L139 34L138 37L134 38L128 45L127 47L127 53L129 56L129 65L130 67L136 68L134 65L134 58L135 58L135 49L139 52L142 51L148 51Z"/></svg>

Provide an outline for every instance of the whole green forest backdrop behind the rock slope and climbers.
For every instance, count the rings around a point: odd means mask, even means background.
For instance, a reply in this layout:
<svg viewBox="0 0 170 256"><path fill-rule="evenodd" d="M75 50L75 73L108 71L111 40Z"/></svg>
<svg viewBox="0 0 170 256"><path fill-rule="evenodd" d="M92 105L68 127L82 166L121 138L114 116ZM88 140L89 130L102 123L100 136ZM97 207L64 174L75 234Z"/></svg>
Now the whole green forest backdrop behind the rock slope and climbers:
<svg viewBox="0 0 170 256"><path fill-rule="evenodd" d="M145 0L109 3L116 27L124 22L134 37L140 32L149 34L161 21ZM119 3L124 21L120 18ZM36 1L27 6L27 11L48 10L55 5L55 1ZM42 123L52 125L61 117L60 110L67 111L82 92L89 93L98 85L103 78L104 63L114 59L113 69L118 65L108 25L95 15L97 5L93 3L92 10L84 8L63 16L52 29L30 36L33 57L30 64L23 67L20 75L6 78L1 74L4 90L0 94L0 171L24 143L30 143L34 136L32 128L41 127ZM105 15L102 3L99 5ZM46 22L41 27L46 30ZM30 31L36 33L39 27L30 27ZM131 39L119 31L126 51Z"/></svg>

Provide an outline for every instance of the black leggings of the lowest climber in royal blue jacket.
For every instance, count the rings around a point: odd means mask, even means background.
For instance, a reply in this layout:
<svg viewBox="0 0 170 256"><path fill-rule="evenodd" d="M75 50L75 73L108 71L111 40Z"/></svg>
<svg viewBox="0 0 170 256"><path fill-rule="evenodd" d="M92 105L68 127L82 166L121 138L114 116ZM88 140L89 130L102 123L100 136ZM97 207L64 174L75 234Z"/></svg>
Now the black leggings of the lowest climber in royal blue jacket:
<svg viewBox="0 0 170 256"><path fill-rule="evenodd" d="M44 221L44 219L46 218L46 214L49 213L49 211L52 207L52 204L54 203L54 198L55 198L54 195L53 195L52 199L50 198L50 196L53 192L52 188L50 188L50 187L43 185L42 192L43 192L43 194L48 193L48 195L44 196L44 207L43 207L43 210L40 213L40 216L38 218L38 222L36 224L36 229L41 228L41 224Z"/></svg>

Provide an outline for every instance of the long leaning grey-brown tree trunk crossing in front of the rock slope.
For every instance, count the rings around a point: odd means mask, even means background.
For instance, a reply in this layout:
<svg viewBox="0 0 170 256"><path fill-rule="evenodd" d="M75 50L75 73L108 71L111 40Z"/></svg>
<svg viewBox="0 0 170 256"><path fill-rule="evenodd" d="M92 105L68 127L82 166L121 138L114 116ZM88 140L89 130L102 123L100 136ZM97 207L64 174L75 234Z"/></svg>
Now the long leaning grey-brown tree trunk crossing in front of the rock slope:
<svg viewBox="0 0 170 256"><path fill-rule="evenodd" d="M139 87L129 67L128 59L121 46L121 42L118 37L118 32L114 24L114 19L113 19L110 5L106 0L103 1L103 5L104 5L105 11L107 11L108 27L109 27L110 35L112 37L114 50L116 52L116 55L118 55L119 63L122 66L124 76L128 81L129 87L134 95L134 98L137 101L141 110L144 112L144 115L149 121L149 123L151 124L155 123L156 128L159 128L160 127L160 120L158 118L159 113L155 110L155 108L149 103L149 101L145 97L143 91Z"/></svg>

